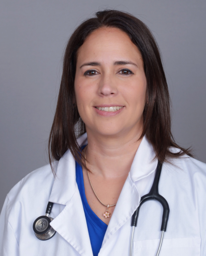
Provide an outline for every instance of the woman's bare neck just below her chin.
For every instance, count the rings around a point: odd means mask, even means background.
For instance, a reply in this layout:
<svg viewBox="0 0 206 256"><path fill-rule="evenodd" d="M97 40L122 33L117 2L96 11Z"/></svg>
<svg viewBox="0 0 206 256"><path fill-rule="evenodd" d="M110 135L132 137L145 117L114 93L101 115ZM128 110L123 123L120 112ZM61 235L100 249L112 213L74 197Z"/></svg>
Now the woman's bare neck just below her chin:
<svg viewBox="0 0 206 256"><path fill-rule="evenodd" d="M141 140L141 132L126 136L95 136L87 131L87 166L96 176L105 179L127 177Z"/></svg>

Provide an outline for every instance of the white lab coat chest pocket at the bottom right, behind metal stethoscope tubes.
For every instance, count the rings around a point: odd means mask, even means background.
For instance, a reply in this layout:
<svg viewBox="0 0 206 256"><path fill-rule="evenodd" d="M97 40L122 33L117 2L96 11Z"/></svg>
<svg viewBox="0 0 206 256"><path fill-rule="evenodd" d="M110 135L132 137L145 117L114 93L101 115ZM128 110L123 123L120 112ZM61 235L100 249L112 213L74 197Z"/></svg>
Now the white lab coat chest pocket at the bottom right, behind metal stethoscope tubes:
<svg viewBox="0 0 206 256"><path fill-rule="evenodd" d="M155 256L159 241L134 241L134 256ZM200 256L200 243L201 238L164 238L159 256Z"/></svg>

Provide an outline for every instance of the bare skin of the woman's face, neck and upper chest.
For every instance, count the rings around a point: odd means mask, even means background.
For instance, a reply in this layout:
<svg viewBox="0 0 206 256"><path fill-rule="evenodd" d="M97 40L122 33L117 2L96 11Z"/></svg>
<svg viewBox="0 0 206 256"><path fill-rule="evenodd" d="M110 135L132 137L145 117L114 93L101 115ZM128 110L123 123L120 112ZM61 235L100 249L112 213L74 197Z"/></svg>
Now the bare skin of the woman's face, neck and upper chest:
<svg viewBox="0 0 206 256"><path fill-rule="evenodd" d="M141 141L146 103L146 76L141 53L118 28L100 28L77 52L75 95L86 124L87 166L96 194L104 204L117 203ZM123 106L106 113L96 106ZM112 114L111 114L112 113ZM106 224L103 206L95 197L83 168L87 202ZM115 207L110 207L109 212Z"/></svg>

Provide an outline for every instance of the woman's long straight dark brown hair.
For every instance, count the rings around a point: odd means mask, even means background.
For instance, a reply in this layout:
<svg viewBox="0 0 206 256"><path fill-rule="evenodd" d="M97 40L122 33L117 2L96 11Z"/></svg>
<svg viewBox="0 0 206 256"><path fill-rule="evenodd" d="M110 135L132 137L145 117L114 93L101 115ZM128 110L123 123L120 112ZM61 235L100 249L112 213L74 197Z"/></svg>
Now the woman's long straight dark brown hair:
<svg viewBox="0 0 206 256"><path fill-rule="evenodd" d="M49 137L51 166L52 160L59 160L68 149L79 163L85 165L81 161L81 150L77 144L77 138L86 132L85 124L77 110L74 91L77 50L88 35L101 27L116 27L125 32L142 55L147 81L147 103L144 109L143 132L139 139L146 135L147 140L153 145L156 158L161 162L183 154L191 156L189 149L177 145L172 136L170 96L160 51L152 33L141 20L129 13L104 10L97 12L94 18L81 23L67 44L56 113ZM173 153L170 147L178 148L180 151ZM54 172L53 168L52 171Z"/></svg>

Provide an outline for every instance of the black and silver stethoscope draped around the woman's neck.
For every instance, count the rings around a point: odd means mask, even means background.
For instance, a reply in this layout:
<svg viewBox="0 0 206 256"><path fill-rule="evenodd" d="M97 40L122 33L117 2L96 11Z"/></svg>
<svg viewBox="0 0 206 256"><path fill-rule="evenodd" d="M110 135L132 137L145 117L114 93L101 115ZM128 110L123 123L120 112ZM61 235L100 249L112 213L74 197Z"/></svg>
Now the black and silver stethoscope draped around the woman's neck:
<svg viewBox="0 0 206 256"><path fill-rule="evenodd" d="M141 197L139 206L132 216L132 222L131 222L132 230L131 230L130 248L129 248L130 256L132 256L132 254L133 254L132 253L133 252L133 240L134 240L135 228L137 227L137 219L139 216L139 209L142 206L142 204L148 200L157 200L163 206L163 219L162 219L162 226L161 226L162 233L161 233L160 243L159 243L159 246L157 249L156 256L158 256L160 253L162 243L163 243L164 232L166 232L167 222L168 222L169 214L170 214L170 208L169 208L167 201L158 192L158 185L159 185L161 170L162 170L162 164L160 163L160 161L158 161L156 173L154 176L154 182L150 189L150 192ZM33 230L34 230L35 236L40 240L48 240L48 239L52 238L56 233L56 231L50 226L50 222L53 220L50 217L50 214L52 212L52 206L53 206L53 203L49 202L47 205L47 208L46 208L45 216L40 216L39 218L37 218L34 221Z"/></svg>

